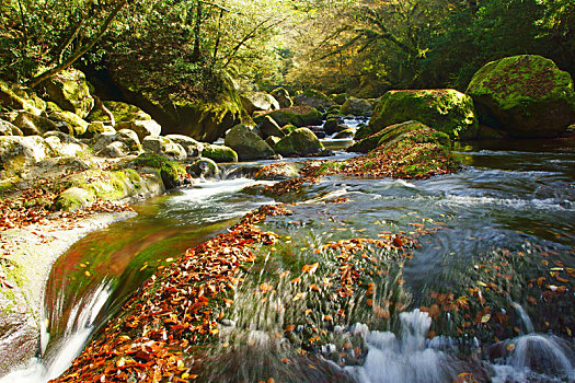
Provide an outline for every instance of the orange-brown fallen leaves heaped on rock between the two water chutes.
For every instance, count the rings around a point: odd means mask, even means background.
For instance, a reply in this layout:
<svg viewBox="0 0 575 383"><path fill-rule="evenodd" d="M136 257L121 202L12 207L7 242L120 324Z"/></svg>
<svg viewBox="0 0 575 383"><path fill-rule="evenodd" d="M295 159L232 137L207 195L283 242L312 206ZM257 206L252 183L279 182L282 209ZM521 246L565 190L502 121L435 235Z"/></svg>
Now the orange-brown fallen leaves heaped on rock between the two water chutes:
<svg viewBox="0 0 575 383"><path fill-rule="evenodd" d="M260 208L152 276L56 382L195 379L186 356L218 334L221 310L232 303L228 291L239 281L240 266L254 262L253 246L276 241L253 223L285 212L284 207Z"/></svg>

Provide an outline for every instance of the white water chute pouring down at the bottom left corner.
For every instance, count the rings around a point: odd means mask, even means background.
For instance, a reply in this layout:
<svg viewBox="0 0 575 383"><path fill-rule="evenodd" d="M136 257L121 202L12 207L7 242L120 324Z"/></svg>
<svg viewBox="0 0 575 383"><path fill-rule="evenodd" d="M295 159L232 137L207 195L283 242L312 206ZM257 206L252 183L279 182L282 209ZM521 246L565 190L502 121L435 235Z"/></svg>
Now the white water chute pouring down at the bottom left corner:
<svg viewBox="0 0 575 383"><path fill-rule="evenodd" d="M42 357L33 359L22 370L0 379L0 383L41 383L58 378L82 352L95 329L96 317L112 294L112 281L103 280L92 293L83 297L71 310L66 330L55 343L49 343L47 321L42 324ZM49 347L48 347L49 343Z"/></svg>

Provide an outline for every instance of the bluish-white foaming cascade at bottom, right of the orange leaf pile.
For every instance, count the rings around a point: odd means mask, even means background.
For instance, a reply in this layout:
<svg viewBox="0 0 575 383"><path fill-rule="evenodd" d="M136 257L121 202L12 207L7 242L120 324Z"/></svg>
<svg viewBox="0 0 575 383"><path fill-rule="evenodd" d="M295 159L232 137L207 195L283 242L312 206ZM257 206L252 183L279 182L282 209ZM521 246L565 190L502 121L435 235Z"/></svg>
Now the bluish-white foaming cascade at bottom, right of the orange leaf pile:
<svg viewBox="0 0 575 383"><path fill-rule="evenodd" d="M449 382L447 358L440 351L426 348L432 318L414 310L400 315L401 338L390 332L363 328L368 347L364 365L346 370L361 383Z"/></svg>

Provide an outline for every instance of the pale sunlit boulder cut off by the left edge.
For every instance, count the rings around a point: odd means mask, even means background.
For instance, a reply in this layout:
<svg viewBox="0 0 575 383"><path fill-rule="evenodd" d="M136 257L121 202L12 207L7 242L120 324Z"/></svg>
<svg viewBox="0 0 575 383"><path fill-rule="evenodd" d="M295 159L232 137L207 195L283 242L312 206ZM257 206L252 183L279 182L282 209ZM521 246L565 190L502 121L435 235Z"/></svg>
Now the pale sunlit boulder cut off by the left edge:
<svg viewBox="0 0 575 383"><path fill-rule="evenodd" d="M0 137L0 171L16 173L25 166L55 156L57 153L39 136Z"/></svg>

